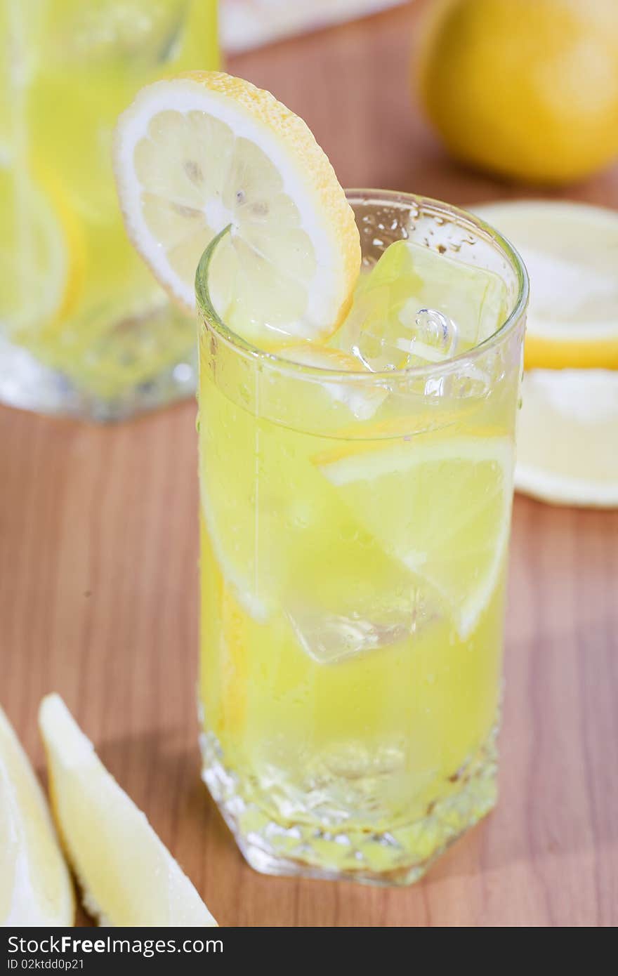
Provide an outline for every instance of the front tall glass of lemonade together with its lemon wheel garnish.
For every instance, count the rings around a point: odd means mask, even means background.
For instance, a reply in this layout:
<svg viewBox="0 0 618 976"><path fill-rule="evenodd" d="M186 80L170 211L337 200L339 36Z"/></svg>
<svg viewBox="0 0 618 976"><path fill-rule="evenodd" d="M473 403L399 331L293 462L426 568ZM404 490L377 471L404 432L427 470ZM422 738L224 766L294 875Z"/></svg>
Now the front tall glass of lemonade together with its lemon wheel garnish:
<svg viewBox="0 0 618 976"><path fill-rule="evenodd" d="M413 881L496 797L523 265L346 195L240 78L147 86L117 145L197 306L203 778L259 871Z"/></svg>

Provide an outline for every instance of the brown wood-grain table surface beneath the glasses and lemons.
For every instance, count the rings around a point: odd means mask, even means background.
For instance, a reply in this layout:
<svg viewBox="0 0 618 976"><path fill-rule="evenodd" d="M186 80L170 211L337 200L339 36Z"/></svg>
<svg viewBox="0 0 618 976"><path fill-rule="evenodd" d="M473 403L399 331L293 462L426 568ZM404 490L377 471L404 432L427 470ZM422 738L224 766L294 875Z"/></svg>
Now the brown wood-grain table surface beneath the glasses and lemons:
<svg viewBox="0 0 618 976"><path fill-rule="evenodd" d="M411 105L421 6L229 69L308 121L344 185L520 193ZM618 207L618 168L565 195ZM224 925L618 923L618 511L515 499L496 811L407 889L264 877L199 780L194 422L192 402L106 428L0 410L0 701L37 768L57 690Z"/></svg>

